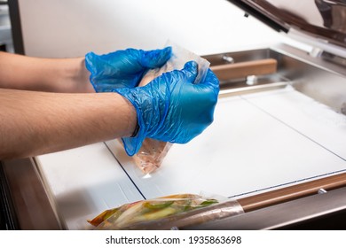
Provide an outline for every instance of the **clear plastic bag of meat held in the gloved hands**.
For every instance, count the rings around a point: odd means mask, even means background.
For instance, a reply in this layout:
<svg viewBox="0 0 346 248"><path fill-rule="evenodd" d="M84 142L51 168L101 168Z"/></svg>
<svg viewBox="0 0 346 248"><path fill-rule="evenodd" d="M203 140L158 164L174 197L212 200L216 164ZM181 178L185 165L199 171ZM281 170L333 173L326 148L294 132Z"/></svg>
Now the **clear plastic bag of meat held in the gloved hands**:
<svg viewBox="0 0 346 248"><path fill-rule="evenodd" d="M179 47L175 43L166 43L165 47L170 46L172 48L172 56L169 58L167 63L161 68L149 70L142 81L140 81L139 86L145 86L154 78L160 76L163 73L170 72L173 70L181 70L184 68L185 63L194 60L198 64L198 75L194 83L199 83L202 81L207 72L210 63L205 58L194 54L189 50L185 50ZM145 138L141 148L138 153L133 156L136 166L140 168L144 174L153 173L157 168L161 167L163 159L169 152L171 143L157 141L151 138Z"/></svg>

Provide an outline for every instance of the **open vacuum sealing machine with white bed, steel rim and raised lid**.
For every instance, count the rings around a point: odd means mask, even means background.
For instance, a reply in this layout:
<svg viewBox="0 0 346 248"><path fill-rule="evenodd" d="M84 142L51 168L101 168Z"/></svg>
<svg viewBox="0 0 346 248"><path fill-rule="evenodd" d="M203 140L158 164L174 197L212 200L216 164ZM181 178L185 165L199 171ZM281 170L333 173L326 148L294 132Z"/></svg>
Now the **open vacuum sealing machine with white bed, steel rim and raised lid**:
<svg viewBox="0 0 346 248"><path fill-rule="evenodd" d="M310 49L279 43L203 56L220 80L215 120L192 142L173 144L153 174L118 140L2 161L14 228L91 229L87 220L111 207L201 192L238 210L141 229L345 228L346 4L229 2Z"/></svg>

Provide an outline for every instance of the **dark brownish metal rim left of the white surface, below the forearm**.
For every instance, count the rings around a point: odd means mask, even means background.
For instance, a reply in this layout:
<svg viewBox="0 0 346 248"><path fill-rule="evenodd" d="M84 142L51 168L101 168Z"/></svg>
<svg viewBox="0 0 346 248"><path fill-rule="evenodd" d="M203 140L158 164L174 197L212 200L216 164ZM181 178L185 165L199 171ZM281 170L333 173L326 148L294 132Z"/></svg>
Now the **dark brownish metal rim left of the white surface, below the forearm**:
<svg viewBox="0 0 346 248"><path fill-rule="evenodd" d="M20 229L62 229L33 159L3 161Z"/></svg>

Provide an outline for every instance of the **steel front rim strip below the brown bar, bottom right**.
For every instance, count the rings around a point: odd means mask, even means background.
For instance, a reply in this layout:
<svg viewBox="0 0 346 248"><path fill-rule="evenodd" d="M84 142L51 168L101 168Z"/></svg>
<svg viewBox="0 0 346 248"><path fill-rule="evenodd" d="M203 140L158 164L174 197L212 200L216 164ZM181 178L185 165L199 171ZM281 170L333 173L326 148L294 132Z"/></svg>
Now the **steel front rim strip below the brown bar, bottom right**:
<svg viewBox="0 0 346 248"><path fill-rule="evenodd" d="M346 188L331 190L189 229L285 229L309 219L346 209Z"/></svg>

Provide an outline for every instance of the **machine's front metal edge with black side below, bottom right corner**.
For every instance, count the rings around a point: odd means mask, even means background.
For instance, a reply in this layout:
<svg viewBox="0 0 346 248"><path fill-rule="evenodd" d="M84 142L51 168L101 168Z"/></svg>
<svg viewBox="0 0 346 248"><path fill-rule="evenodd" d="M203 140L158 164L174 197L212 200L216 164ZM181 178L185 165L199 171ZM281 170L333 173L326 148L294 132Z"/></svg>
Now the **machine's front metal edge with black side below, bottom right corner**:
<svg viewBox="0 0 346 248"><path fill-rule="evenodd" d="M344 229L345 220L346 188L340 188L185 229Z"/></svg>

